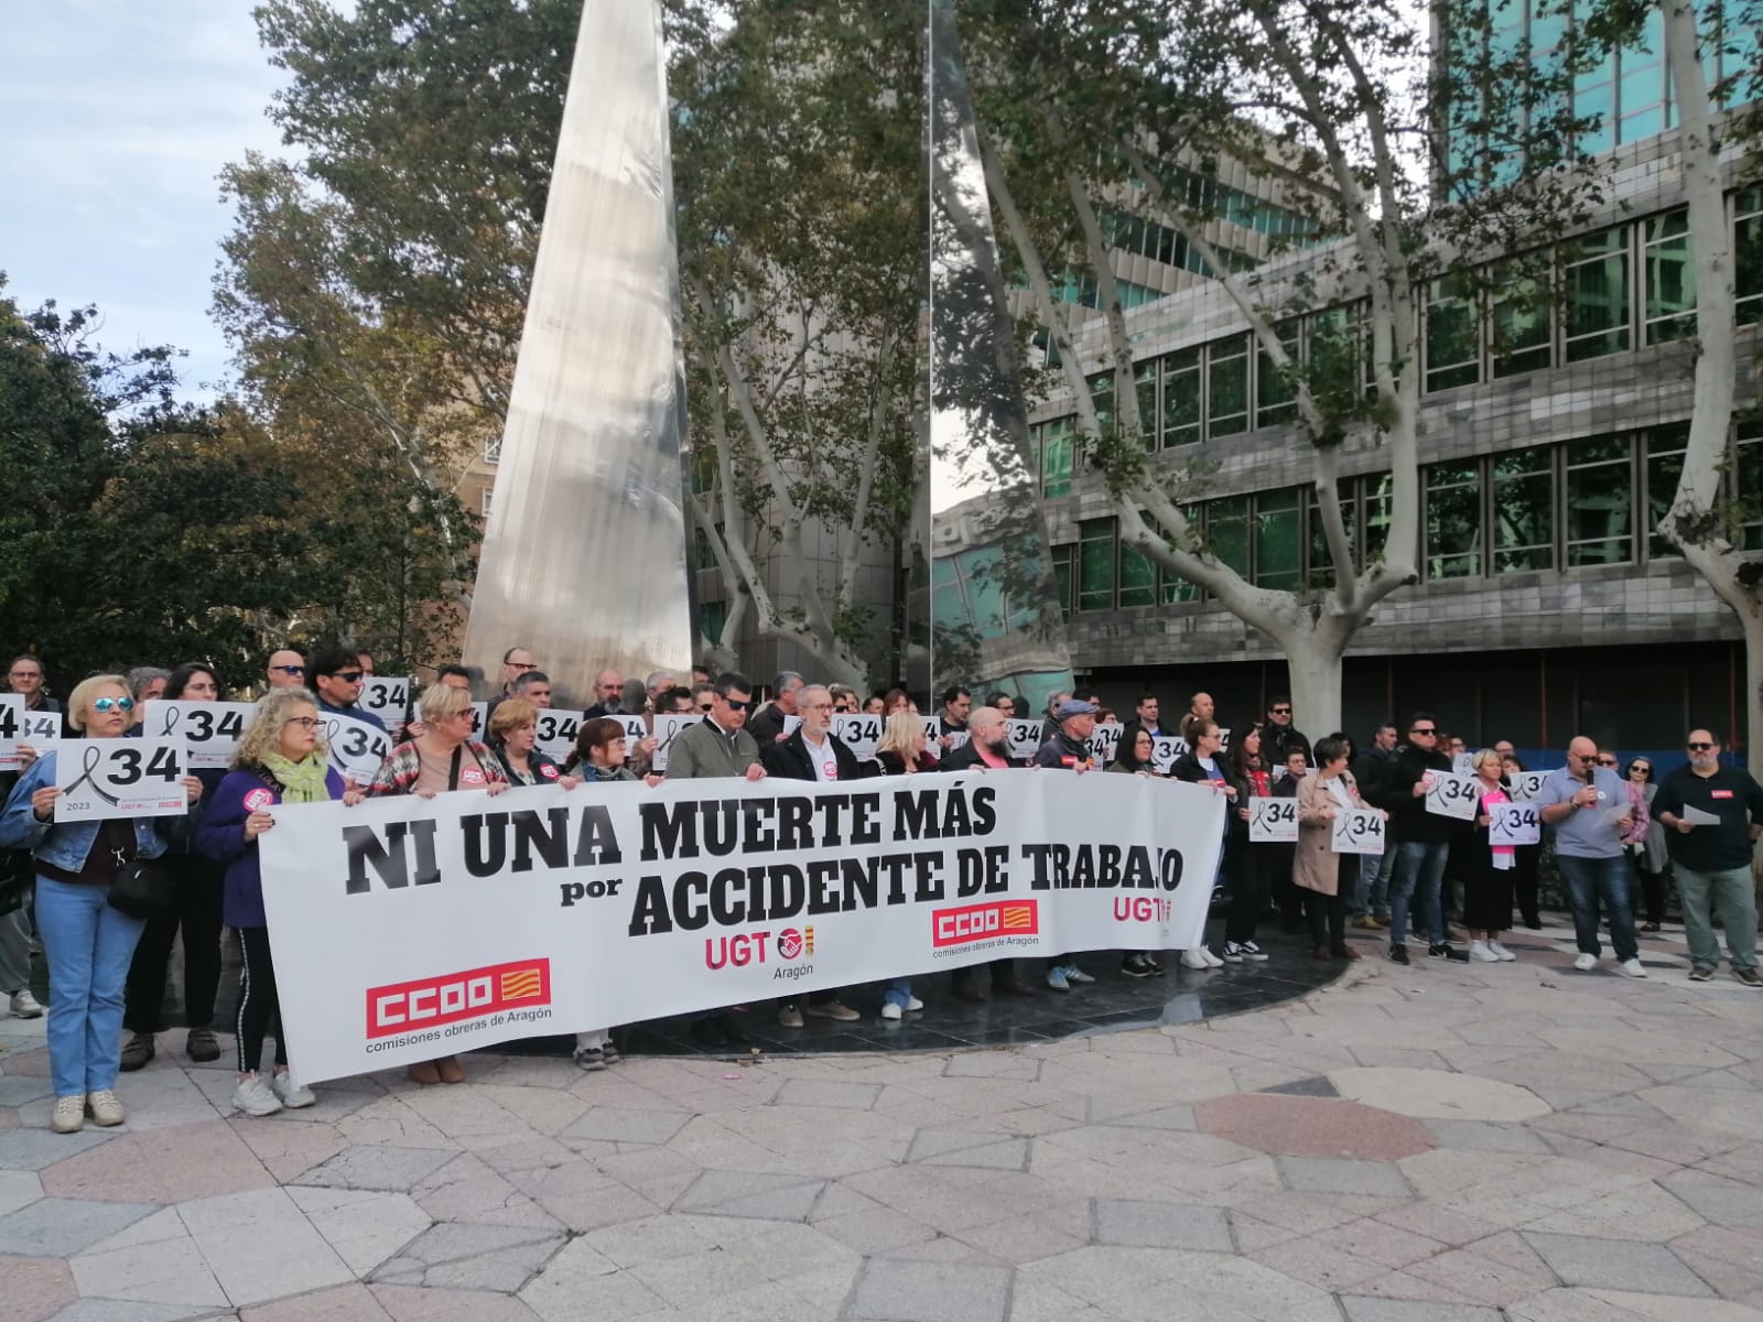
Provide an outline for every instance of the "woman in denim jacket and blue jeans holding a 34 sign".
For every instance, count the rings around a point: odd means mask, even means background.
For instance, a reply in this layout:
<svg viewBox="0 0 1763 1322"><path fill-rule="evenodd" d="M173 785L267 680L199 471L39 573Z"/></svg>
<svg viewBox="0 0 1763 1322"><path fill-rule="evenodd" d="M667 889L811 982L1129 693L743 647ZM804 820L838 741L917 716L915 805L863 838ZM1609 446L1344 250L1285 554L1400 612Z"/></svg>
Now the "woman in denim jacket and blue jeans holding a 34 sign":
<svg viewBox="0 0 1763 1322"><path fill-rule="evenodd" d="M122 739L134 698L122 675L93 675L67 698L67 723L86 739ZM122 1003L143 918L106 901L111 881L134 858L157 858L182 818L55 821L55 753L32 758L0 813L0 846L37 858L37 931L49 961L49 1126L74 1133L90 1114L122 1125L116 1072L122 1066ZM183 777L194 804L203 783Z"/></svg>

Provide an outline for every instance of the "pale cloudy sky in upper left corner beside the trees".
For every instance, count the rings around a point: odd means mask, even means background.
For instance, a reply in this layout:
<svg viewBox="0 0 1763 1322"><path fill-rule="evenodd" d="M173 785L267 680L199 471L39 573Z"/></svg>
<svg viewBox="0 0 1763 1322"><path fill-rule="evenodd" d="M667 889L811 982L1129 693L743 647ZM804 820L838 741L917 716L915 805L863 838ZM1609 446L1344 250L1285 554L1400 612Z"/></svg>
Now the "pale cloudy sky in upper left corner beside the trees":
<svg viewBox="0 0 1763 1322"><path fill-rule="evenodd" d="M99 342L189 351L183 395L226 379L208 317L231 227L215 176L250 148L286 74L252 0L0 0L0 271L19 307L97 303Z"/></svg>

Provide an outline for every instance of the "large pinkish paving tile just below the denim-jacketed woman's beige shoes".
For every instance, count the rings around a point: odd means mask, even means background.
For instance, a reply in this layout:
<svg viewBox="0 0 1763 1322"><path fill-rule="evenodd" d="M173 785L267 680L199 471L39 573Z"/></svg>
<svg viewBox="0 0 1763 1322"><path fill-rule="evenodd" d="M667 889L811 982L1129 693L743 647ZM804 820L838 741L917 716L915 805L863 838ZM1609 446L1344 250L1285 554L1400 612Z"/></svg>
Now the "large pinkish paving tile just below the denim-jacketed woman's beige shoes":
<svg viewBox="0 0 1763 1322"><path fill-rule="evenodd" d="M46 1193L104 1202L185 1202L275 1179L224 1119L123 1133L42 1172Z"/></svg>

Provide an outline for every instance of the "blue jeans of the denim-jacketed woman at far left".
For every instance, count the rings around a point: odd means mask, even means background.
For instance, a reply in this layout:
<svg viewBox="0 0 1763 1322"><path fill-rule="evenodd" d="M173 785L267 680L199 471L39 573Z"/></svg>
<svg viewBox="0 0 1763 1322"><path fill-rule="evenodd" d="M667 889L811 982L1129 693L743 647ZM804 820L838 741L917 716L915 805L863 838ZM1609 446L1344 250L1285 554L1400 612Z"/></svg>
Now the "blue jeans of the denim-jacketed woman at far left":
<svg viewBox="0 0 1763 1322"><path fill-rule="evenodd" d="M104 902L104 887L37 878L37 932L49 961L49 1079L56 1096L116 1086L122 989L146 924Z"/></svg>

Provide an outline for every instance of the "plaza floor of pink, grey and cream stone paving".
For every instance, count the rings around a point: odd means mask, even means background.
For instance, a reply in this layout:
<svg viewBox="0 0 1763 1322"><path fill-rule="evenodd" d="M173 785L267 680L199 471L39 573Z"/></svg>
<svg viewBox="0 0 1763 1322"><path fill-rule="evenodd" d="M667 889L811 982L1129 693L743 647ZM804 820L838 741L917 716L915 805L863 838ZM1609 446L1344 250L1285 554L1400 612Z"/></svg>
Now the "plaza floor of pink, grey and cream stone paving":
<svg viewBox="0 0 1763 1322"><path fill-rule="evenodd" d="M1763 1322L1763 996L1670 931L1647 982L1511 945L1021 1047L478 1054L270 1119L167 1033L71 1137L42 1021L0 1019L0 1318Z"/></svg>

